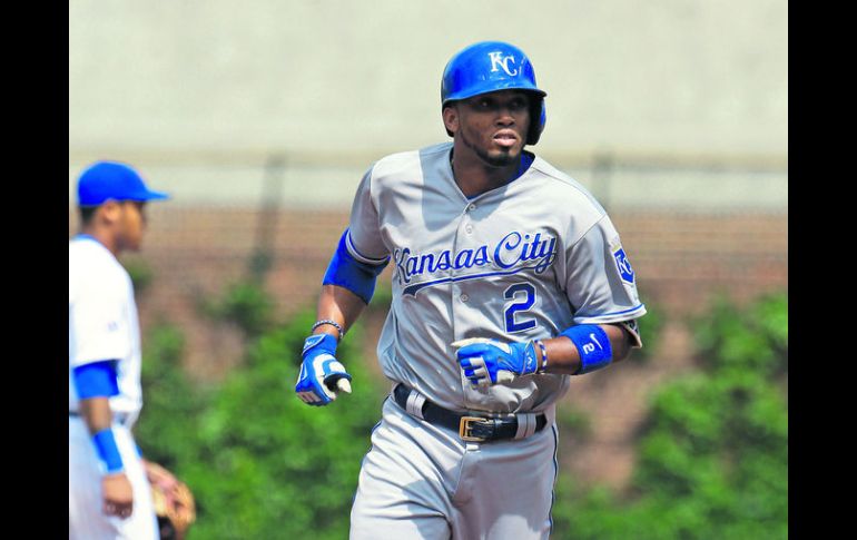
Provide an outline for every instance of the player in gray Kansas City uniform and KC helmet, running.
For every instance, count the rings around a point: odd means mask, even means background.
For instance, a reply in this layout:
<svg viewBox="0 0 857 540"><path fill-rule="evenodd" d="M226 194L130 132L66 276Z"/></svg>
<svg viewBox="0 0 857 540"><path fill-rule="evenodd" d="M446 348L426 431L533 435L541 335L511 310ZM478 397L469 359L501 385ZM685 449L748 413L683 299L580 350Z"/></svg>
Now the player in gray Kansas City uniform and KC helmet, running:
<svg viewBox="0 0 857 540"><path fill-rule="evenodd" d="M323 279L296 392L351 391L338 341L393 265L377 355L392 381L361 469L352 539L544 539L555 403L642 346L619 234L575 180L524 149L545 125L524 52L489 41L442 77L452 143L365 174Z"/></svg>

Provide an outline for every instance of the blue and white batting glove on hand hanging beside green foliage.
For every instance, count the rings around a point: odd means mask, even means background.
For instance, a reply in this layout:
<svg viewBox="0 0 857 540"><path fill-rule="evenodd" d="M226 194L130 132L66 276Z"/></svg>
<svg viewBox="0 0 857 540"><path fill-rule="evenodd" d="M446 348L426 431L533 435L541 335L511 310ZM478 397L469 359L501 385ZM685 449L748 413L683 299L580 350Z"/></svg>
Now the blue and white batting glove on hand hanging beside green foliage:
<svg viewBox="0 0 857 540"><path fill-rule="evenodd" d="M304 342L304 361L297 376L295 392L304 403L323 406L336 399L336 390L351 392L351 375L336 360L336 337L314 334Z"/></svg>

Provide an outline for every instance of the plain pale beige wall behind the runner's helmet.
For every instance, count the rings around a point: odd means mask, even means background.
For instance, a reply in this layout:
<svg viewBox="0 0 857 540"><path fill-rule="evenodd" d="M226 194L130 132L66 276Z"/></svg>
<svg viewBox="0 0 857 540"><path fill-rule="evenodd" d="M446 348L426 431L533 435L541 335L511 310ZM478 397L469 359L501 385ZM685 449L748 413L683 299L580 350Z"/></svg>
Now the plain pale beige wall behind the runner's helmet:
<svg viewBox="0 0 857 540"><path fill-rule="evenodd" d="M546 157L786 159L785 0L71 0L69 181L171 156L243 159L258 183L269 151L345 156L351 178L446 139L441 72L483 39L530 56Z"/></svg>

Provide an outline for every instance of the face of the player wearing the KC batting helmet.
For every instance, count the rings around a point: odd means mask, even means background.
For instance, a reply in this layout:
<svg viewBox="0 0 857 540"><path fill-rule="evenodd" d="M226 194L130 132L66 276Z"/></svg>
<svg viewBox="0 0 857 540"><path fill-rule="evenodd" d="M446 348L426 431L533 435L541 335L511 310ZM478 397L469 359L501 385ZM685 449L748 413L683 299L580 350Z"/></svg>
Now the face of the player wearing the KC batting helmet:
<svg viewBox="0 0 857 540"><path fill-rule="evenodd" d="M484 163L504 167L518 163L530 129L530 96L500 90L461 101L456 135Z"/></svg>

